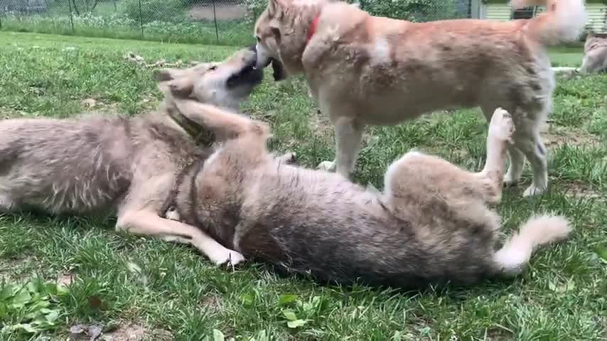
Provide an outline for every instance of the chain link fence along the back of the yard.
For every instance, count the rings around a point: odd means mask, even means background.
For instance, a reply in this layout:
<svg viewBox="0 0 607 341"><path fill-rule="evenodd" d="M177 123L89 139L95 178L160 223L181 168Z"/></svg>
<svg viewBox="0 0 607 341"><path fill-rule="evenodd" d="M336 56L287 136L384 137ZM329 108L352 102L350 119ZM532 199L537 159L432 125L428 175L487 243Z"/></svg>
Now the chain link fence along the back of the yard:
<svg viewBox="0 0 607 341"><path fill-rule="evenodd" d="M358 0L411 21L468 18L471 0ZM253 43L267 0L0 0L0 29L179 43Z"/></svg>

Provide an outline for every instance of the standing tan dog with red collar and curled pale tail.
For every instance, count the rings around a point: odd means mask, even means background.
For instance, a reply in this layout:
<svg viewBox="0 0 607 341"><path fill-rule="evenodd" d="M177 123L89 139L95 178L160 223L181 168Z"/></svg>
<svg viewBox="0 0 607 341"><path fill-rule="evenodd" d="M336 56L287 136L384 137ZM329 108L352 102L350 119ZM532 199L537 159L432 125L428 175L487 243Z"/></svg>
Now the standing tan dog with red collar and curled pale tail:
<svg viewBox="0 0 607 341"><path fill-rule="evenodd" d="M303 73L335 125L335 161L320 168L348 176L367 124L392 125L426 112L477 107L490 119L503 107L516 126L505 183L520 180L525 158L533 183L547 188L547 151L539 129L552 107L554 75L546 47L584 29L583 0L519 0L547 5L529 20L412 23L370 16L331 0L269 0L255 26L258 66L281 60Z"/></svg>

